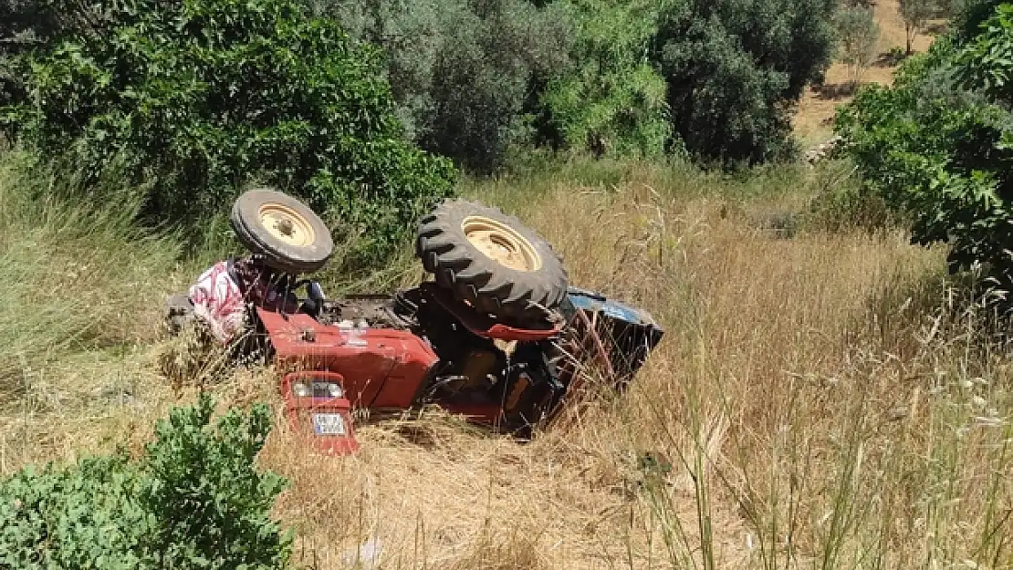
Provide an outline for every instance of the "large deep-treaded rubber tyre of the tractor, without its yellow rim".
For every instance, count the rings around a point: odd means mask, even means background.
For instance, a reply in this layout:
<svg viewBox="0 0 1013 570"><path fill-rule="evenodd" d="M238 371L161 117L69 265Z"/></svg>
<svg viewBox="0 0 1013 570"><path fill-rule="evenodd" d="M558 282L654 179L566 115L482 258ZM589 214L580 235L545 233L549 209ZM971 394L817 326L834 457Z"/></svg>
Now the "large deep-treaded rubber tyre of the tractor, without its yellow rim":
<svg viewBox="0 0 1013 570"><path fill-rule="evenodd" d="M522 245L526 242L537 263L527 270L518 269L483 253L465 231L466 224L476 219L488 227L505 227L503 232L512 239ZM514 216L480 203L448 200L423 217L415 253L439 286L496 317L541 320L566 296L566 270L552 246Z"/></svg>

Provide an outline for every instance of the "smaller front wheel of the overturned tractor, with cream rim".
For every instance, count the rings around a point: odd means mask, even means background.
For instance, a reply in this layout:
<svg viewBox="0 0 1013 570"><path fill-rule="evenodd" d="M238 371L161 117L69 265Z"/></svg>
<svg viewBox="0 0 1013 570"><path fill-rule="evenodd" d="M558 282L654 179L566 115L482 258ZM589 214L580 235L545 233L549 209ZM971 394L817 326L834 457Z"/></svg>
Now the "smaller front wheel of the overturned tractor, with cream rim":
<svg viewBox="0 0 1013 570"><path fill-rule="evenodd" d="M334 252L323 221L305 203L279 191L244 192L232 206L229 222L239 241L279 271L311 273Z"/></svg>

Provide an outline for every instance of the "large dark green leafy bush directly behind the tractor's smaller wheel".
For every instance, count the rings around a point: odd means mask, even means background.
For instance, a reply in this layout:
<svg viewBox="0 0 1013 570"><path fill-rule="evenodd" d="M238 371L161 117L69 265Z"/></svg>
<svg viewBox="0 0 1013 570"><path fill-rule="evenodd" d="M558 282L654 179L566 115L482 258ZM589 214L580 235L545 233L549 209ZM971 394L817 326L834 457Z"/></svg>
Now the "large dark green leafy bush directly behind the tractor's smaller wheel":
<svg viewBox="0 0 1013 570"><path fill-rule="evenodd" d="M403 140L378 54L336 21L295 0L95 10L97 31L16 56L3 120L86 172L126 157L159 221L220 212L257 179L308 200L340 236L362 233L360 257L375 261L451 192L450 163Z"/></svg>

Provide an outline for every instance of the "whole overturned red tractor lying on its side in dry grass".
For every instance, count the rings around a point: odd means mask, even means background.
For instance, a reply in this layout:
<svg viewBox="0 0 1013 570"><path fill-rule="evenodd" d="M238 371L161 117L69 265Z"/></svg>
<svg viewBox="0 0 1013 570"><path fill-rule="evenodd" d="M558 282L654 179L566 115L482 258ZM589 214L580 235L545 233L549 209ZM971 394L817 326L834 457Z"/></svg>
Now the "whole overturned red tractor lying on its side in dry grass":
<svg viewBox="0 0 1013 570"><path fill-rule="evenodd" d="M209 269L170 301L170 322L178 329L196 317L222 340L253 339L244 344L283 371L293 426L328 453L358 449L353 417L425 404L529 436L559 414L589 367L624 389L664 334L647 313L569 287L545 240L478 203L446 201L422 218L416 253L434 280L333 300L299 277L333 249L306 206L251 190L231 222L253 254Z"/></svg>

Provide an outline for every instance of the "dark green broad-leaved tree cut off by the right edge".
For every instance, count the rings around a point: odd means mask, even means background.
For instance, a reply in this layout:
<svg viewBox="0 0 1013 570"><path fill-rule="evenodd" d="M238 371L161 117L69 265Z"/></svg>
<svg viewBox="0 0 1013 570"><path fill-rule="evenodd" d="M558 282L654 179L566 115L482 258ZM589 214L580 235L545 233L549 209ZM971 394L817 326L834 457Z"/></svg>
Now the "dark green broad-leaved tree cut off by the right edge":
<svg viewBox="0 0 1013 570"><path fill-rule="evenodd" d="M968 43L937 39L837 121L865 191L910 220L913 241L949 243L951 270L981 263L1004 287L1013 283L1011 15L999 7Z"/></svg>

